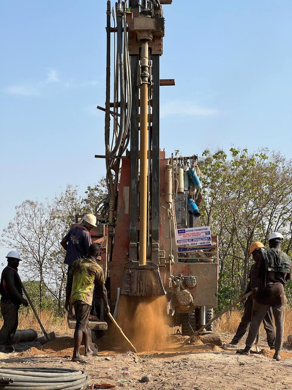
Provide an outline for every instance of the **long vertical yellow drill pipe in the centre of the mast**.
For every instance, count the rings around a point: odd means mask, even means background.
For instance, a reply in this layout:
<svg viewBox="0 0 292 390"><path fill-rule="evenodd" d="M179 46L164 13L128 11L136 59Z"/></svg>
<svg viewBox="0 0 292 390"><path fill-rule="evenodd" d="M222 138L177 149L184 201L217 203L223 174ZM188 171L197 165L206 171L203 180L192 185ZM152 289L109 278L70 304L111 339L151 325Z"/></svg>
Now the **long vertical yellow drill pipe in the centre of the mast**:
<svg viewBox="0 0 292 390"><path fill-rule="evenodd" d="M147 239L148 85L141 85L140 122L140 242L139 264L146 265Z"/></svg>

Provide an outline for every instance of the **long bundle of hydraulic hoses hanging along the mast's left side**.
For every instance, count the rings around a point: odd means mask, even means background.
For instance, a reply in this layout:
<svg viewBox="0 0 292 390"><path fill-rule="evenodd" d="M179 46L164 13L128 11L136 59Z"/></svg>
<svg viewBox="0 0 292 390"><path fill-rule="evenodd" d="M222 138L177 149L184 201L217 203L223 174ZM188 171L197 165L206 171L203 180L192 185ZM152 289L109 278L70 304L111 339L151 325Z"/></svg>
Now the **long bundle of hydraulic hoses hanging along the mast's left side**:
<svg viewBox="0 0 292 390"><path fill-rule="evenodd" d="M126 151L127 145L130 141L130 115L132 109L132 84L130 71L130 55L128 49L128 35L127 35L127 3L128 0L118 0L116 2L116 21L117 28L114 34L117 34L114 39L114 52L117 55L117 60L114 64L114 112L110 111L111 98L111 1L107 0L107 55L106 55L106 108L105 108L105 126L104 139L106 147L106 184L109 195L109 202L107 198L103 199L104 205L100 203L95 207L95 215L98 221L104 222L108 220L111 224L114 221L113 212L116 208L116 194L118 188L118 175L120 170L121 160L120 156ZM114 16L114 14L113 14ZM114 19L115 20L115 19ZM115 23L114 23L115 24ZM116 35L115 35L116 36ZM120 82L120 85L119 85ZM120 102L119 92L120 92ZM118 107L120 113L118 113ZM113 115L113 138L110 144L110 115ZM115 140L115 142L114 142ZM118 158L117 158L117 156ZM108 213L108 214L106 214Z"/></svg>

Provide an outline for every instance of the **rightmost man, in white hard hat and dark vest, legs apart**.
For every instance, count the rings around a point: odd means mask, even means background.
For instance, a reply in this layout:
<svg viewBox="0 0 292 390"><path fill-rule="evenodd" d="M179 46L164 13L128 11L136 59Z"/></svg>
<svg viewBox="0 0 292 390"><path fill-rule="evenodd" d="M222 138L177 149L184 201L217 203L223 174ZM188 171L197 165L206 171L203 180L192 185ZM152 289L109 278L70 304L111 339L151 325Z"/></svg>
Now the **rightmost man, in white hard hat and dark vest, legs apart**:
<svg viewBox="0 0 292 390"><path fill-rule="evenodd" d="M283 236L279 232L273 232L269 236L270 249L261 249L256 252L257 262L254 275L260 278L260 285L254 296L252 319L244 349L238 349L236 353L249 355L260 323L269 308L272 308L276 325L275 353L273 359L281 360L285 321L285 296L284 287L287 280L291 279L291 260L281 250Z"/></svg>

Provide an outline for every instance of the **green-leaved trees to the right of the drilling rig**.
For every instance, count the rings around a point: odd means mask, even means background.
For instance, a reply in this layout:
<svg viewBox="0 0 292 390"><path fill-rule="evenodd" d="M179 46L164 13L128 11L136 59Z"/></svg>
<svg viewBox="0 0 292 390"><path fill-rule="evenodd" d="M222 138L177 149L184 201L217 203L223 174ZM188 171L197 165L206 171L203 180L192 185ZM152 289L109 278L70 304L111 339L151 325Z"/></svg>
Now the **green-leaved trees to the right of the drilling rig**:
<svg viewBox="0 0 292 390"><path fill-rule="evenodd" d="M274 230L291 249L292 163L279 153L230 149L203 153L202 223L219 239L219 300L233 300L245 290L250 269L250 244L267 243ZM220 305L222 302L219 302Z"/></svg>

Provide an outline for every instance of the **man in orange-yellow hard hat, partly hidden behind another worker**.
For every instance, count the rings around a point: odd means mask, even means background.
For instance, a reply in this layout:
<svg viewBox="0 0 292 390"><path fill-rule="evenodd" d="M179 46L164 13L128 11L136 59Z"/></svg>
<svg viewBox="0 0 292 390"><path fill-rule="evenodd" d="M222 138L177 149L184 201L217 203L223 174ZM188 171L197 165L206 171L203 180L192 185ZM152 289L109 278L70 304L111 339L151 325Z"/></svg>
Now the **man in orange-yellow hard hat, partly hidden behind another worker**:
<svg viewBox="0 0 292 390"><path fill-rule="evenodd" d="M252 264L250 268L250 281L243 295L249 293L250 291L252 291L253 288L259 287L260 285L260 279L256 278L253 274L255 271L255 265L257 260L257 251L259 251L261 248L264 248L264 244L262 244L260 241L256 241L252 243L252 245L250 246L250 255L253 256L253 260L255 260L255 263ZM252 306L253 306L253 296L250 295L245 301L243 316L238 325L237 331L233 336L233 339L230 341L230 343L223 344L222 346L223 348L236 347L236 344L238 344L239 341L243 338L250 324L250 320L252 319ZM270 347L270 349L275 349L274 347L275 330L273 325L273 312L271 307L269 308L264 318L262 319L262 323L267 333L267 344Z"/></svg>

